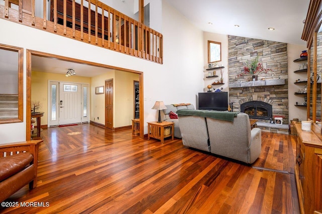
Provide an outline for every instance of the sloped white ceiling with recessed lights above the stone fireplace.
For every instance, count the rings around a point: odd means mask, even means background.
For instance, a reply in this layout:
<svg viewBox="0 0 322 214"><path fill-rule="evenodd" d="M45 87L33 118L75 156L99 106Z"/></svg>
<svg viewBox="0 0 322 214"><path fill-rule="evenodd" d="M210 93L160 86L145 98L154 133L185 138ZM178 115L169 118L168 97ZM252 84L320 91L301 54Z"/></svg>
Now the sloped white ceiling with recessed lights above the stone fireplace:
<svg viewBox="0 0 322 214"><path fill-rule="evenodd" d="M204 32L306 44L301 35L309 0L166 1Z"/></svg>

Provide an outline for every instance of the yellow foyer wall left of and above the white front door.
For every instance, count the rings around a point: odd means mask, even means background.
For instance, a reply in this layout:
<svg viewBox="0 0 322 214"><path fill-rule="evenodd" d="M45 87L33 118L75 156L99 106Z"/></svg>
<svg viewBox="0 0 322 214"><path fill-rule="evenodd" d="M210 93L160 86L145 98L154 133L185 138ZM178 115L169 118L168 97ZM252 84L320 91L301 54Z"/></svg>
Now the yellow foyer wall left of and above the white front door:
<svg viewBox="0 0 322 214"><path fill-rule="evenodd" d="M72 83L91 83L91 78L89 77L79 77L77 75L65 77L63 74L33 71L31 73L31 101L40 101L41 107L38 111L45 112L44 116L41 118L41 125L48 124L48 80Z"/></svg>

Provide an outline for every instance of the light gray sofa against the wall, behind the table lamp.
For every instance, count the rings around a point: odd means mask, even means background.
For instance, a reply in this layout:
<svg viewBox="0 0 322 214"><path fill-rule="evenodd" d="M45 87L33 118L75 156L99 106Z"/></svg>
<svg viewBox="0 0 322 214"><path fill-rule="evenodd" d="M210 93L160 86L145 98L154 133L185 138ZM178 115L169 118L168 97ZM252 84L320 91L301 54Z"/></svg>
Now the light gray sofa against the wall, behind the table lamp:
<svg viewBox="0 0 322 214"><path fill-rule="evenodd" d="M171 119L169 114L170 112L176 113L180 109L195 109L195 107L192 104L189 105L180 105L180 106L174 106L174 105L166 105L167 109L164 109L161 111L161 120L162 121L169 121L175 123L175 137L181 138L181 131L179 128L179 122L178 119Z"/></svg>

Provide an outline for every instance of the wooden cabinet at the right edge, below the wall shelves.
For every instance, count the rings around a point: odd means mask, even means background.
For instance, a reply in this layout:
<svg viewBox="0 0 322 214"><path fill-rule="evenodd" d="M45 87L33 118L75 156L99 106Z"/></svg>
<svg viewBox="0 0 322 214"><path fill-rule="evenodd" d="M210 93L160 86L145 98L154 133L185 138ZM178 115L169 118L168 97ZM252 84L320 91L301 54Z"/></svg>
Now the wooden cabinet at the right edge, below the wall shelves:
<svg viewBox="0 0 322 214"><path fill-rule="evenodd" d="M295 124L296 166L295 179L301 213L322 209L322 139L314 131L302 131Z"/></svg>

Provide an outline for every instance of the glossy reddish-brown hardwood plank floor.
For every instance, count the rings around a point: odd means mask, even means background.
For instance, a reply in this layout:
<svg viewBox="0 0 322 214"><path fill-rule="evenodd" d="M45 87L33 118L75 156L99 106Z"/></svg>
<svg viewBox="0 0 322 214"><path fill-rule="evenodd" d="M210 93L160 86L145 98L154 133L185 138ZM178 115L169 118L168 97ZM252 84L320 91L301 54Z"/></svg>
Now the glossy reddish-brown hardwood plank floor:
<svg viewBox="0 0 322 214"><path fill-rule="evenodd" d="M189 149L181 139L161 144L90 124L41 136L38 186L8 201L44 206L0 212L299 213L291 135L262 132L253 165Z"/></svg>

